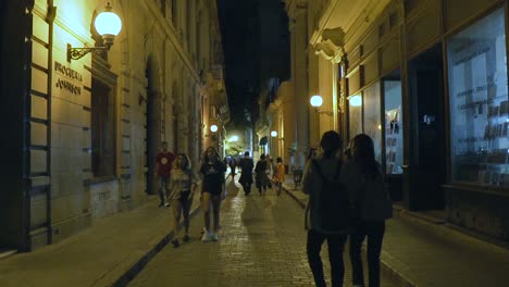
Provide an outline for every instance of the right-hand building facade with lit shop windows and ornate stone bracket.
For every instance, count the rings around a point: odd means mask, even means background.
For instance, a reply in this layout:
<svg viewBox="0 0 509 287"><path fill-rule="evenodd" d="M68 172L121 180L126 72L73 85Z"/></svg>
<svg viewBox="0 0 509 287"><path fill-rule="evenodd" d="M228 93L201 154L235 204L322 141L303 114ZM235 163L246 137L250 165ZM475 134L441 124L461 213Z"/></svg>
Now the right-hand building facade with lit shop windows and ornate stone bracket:
<svg viewBox="0 0 509 287"><path fill-rule="evenodd" d="M327 129L368 134L395 201L507 242L508 1L285 4L299 115L288 140L302 151Z"/></svg>

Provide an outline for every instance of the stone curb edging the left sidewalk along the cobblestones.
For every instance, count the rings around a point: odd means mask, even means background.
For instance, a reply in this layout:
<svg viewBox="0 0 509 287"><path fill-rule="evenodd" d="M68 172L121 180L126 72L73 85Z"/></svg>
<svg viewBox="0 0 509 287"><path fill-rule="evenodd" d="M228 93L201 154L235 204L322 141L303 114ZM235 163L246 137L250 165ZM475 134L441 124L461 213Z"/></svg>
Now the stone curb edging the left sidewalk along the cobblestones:
<svg viewBox="0 0 509 287"><path fill-rule="evenodd" d="M198 204L194 210L190 211L189 217L194 217L198 211L200 210L200 205ZM181 222L183 225L184 222ZM127 271L124 272L117 279L115 279L111 285L112 287L124 287L138 275L144 267L152 260L159 251L161 251L173 238L174 230L170 230L167 235L165 235L162 239L160 239L153 247L150 248L139 260L137 260Z"/></svg>

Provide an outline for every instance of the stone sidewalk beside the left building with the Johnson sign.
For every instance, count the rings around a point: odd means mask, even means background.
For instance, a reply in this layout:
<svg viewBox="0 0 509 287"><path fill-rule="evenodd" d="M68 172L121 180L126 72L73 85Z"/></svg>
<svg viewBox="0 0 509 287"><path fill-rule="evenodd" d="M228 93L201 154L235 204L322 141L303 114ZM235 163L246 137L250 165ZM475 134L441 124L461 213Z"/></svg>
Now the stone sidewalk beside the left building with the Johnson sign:
<svg viewBox="0 0 509 287"><path fill-rule="evenodd" d="M158 203L152 196L61 242L0 260L0 286L124 286L173 235L171 209Z"/></svg>

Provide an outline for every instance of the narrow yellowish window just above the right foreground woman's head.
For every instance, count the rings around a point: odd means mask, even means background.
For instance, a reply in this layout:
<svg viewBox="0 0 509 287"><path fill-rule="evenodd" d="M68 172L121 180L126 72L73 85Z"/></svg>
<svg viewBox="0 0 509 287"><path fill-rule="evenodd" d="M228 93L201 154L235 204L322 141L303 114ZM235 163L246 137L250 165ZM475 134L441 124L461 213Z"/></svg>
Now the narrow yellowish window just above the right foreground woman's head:
<svg viewBox="0 0 509 287"><path fill-rule="evenodd" d="M364 89L364 134L373 139L375 159L382 162L382 123L380 116L380 82Z"/></svg>

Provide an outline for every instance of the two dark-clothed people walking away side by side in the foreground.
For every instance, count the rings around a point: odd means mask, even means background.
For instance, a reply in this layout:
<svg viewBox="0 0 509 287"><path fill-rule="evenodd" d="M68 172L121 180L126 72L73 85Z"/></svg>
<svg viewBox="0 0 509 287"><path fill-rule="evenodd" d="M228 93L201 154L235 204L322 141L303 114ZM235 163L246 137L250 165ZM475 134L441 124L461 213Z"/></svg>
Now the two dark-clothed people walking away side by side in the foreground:
<svg viewBox="0 0 509 287"><path fill-rule="evenodd" d="M380 253L392 204L373 140L357 135L350 142L349 155L343 157L342 137L330 130L323 134L320 146L322 152L308 160L302 177L302 191L309 195L307 254L315 285L326 286L320 257L326 240L332 286L343 286L343 253L349 236L352 285L364 286L361 246L368 238L369 286L380 286Z"/></svg>

